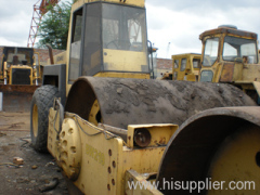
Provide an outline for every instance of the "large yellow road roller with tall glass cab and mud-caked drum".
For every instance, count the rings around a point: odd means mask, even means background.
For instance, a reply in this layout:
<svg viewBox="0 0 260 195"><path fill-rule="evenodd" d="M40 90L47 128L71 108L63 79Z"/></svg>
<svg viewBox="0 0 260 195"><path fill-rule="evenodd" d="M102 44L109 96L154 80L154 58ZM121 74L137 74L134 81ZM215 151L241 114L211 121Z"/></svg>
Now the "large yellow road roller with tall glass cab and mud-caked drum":
<svg viewBox="0 0 260 195"><path fill-rule="evenodd" d="M151 186L133 190L129 183L166 177L161 165L172 161L167 153L179 138L178 125L210 107L256 105L230 84L150 79L145 21L144 1L79 0L72 8L66 53L44 66L43 86L31 101L31 144L39 152L48 148L55 157L72 194L167 193ZM55 64L65 56L66 64ZM230 129L221 129L223 136L216 140L219 131L212 123L216 131L208 128L202 134L212 136L211 147L193 142L191 152L202 148L213 155L225 135L236 131L238 123L232 129L233 121L229 120ZM206 129L196 129L193 123L186 127L184 138L177 142L185 143L187 150L190 129L195 128L192 135L196 141L200 135L196 132ZM191 159L187 155L187 164L198 162L199 155L193 153ZM213 162L210 157L205 157L200 167ZM179 166L173 164L167 176ZM188 170L194 170L190 179L203 174L196 167Z"/></svg>

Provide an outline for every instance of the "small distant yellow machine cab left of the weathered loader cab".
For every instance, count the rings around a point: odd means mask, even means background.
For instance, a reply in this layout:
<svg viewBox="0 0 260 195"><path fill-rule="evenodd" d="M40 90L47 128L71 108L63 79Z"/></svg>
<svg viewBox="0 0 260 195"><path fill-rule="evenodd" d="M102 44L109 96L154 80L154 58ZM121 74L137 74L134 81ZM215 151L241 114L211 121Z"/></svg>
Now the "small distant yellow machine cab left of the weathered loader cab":
<svg viewBox="0 0 260 195"><path fill-rule="evenodd" d="M162 80L188 80L198 81L200 70L200 54L184 53L171 55L172 73L162 75Z"/></svg>

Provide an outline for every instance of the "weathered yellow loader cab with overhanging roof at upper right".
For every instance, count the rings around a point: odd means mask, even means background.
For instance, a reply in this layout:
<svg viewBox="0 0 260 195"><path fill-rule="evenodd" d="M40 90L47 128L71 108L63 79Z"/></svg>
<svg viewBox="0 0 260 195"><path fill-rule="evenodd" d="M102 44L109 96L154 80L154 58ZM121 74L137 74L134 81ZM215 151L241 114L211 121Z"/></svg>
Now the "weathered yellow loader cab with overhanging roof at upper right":
<svg viewBox="0 0 260 195"><path fill-rule="evenodd" d="M199 39L203 41L200 81L234 83L258 78L256 73L246 70L260 68L257 34L227 25L207 30Z"/></svg>

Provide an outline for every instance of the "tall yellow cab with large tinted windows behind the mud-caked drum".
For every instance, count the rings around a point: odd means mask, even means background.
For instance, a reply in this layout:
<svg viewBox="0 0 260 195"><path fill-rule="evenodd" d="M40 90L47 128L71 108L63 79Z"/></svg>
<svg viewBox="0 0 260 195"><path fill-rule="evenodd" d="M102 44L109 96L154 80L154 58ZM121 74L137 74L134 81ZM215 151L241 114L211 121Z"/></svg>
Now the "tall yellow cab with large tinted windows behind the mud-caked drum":
<svg viewBox="0 0 260 195"><path fill-rule="evenodd" d="M69 84L79 76L150 78L144 4L116 2L73 5Z"/></svg>

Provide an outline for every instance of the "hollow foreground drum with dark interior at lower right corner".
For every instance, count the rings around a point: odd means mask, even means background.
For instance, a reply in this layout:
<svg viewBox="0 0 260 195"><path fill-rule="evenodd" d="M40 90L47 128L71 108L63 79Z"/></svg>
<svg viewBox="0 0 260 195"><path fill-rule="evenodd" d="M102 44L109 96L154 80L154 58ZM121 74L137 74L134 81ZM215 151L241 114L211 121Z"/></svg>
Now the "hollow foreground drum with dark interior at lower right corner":
<svg viewBox="0 0 260 195"><path fill-rule="evenodd" d="M259 107L230 107L186 120L161 158L157 176L161 192L260 194L259 116Z"/></svg>

